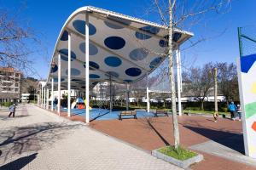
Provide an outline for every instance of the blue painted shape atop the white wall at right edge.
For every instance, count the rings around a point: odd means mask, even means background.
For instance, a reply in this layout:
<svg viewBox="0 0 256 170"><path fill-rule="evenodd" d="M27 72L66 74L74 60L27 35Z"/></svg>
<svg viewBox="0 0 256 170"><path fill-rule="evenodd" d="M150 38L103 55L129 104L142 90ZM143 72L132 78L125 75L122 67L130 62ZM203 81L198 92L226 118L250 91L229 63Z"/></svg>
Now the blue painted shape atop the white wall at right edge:
<svg viewBox="0 0 256 170"><path fill-rule="evenodd" d="M253 63L255 62L255 60L256 60L256 54L242 56L240 58L241 72L247 73L253 66Z"/></svg>

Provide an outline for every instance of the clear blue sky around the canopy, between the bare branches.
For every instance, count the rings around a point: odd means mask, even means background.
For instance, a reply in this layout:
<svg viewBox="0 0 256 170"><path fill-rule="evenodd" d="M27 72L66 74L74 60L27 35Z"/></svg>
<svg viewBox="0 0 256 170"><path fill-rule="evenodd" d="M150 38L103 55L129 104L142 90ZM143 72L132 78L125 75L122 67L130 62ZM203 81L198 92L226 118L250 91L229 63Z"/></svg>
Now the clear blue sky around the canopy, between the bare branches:
<svg viewBox="0 0 256 170"><path fill-rule="evenodd" d="M26 8L20 12L20 18L29 21L29 26L38 32L48 52L44 56L32 56L35 68L43 78L46 78L49 72L47 60L51 58L59 31L67 17L77 8L91 5L145 20L157 20L155 14L145 14L147 8L152 6L150 1L146 0L0 0L0 7L15 11L24 2ZM195 41L200 37L206 37L207 41L182 51L185 66L203 65L209 61L236 62L239 56L237 27L255 25L256 17L253 14L255 8L256 1L235 0L228 13L208 14L207 21L192 27L190 31L195 33Z"/></svg>

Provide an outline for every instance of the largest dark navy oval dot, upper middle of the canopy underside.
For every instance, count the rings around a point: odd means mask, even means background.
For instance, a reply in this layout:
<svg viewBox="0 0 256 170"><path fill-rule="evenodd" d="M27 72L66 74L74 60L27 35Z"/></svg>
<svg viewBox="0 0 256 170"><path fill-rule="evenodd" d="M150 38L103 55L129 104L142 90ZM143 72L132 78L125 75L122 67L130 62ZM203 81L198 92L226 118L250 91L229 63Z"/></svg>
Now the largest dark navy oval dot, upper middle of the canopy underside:
<svg viewBox="0 0 256 170"><path fill-rule="evenodd" d="M121 37L107 37L104 40L104 43L110 49L120 49L125 47L125 40Z"/></svg>

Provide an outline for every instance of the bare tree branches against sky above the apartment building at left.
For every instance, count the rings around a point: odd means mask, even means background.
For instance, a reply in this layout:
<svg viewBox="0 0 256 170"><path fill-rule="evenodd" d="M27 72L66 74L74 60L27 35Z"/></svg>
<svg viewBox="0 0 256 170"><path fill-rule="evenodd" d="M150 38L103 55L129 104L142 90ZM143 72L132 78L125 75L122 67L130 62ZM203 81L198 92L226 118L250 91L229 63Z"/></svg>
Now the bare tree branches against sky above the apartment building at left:
<svg viewBox="0 0 256 170"><path fill-rule="evenodd" d="M19 10L10 13L0 8L0 66L13 67L25 75L39 76L32 67L32 54L44 51L43 46L26 20L20 20L19 15Z"/></svg>

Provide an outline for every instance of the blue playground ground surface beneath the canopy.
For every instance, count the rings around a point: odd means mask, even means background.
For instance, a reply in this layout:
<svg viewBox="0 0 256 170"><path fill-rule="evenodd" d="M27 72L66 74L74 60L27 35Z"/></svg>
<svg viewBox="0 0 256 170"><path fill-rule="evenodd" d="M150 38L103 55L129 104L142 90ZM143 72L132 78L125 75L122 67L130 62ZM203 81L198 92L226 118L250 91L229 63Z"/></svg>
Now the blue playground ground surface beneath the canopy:
<svg viewBox="0 0 256 170"><path fill-rule="evenodd" d="M61 111L67 112L67 109L61 109ZM71 109L72 116L85 116L84 109ZM102 121L102 120L111 120L118 119L120 111L113 110L110 112L106 109L92 108L90 110L90 121ZM145 116L154 116L153 113L148 113L147 111L137 111L137 117L145 117ZM124 118L133 118L133 116L124 116Z"/></svg>

